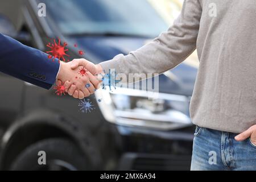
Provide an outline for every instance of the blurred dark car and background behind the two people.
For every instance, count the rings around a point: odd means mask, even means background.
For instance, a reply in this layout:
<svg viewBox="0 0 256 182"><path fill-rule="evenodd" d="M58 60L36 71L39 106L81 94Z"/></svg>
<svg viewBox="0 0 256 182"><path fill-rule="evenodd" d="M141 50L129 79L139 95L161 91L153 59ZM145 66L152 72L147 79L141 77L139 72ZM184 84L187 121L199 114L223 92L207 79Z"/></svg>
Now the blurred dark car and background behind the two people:
<svg viewBox="0 0 256 182"><path fill-rule="evenodd" d="M68 43L69 60L84 57L97 64L126 55L166 31L182 4L1 0L0 32L44 52L59 38ZM0 168L189 170L194 131L189 102L198 64L194 52L160 75L155 100L148 100L146 90L97 90L84 100L92 105L87 113L81 112L79 100L0 73L5 85L0 89ZM43 164L40 151L46 154Z"/></svg>

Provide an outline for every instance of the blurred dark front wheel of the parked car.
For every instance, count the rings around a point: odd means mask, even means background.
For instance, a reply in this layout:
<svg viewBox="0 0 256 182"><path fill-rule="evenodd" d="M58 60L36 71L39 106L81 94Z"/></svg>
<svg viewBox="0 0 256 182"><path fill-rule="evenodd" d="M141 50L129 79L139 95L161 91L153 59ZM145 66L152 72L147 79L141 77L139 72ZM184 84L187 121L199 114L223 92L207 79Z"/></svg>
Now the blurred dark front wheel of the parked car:
<svg viewBox="0 0 256 182"><path fill-rule="evenodd" d="M46 164L42 164L42 152ZM39 159L40 158L40 159ZM40 163L40 164L39 164ZM22 151L11 165L11 170L76 171L92 169L81 150L68 139L40 140Z"/></svg>

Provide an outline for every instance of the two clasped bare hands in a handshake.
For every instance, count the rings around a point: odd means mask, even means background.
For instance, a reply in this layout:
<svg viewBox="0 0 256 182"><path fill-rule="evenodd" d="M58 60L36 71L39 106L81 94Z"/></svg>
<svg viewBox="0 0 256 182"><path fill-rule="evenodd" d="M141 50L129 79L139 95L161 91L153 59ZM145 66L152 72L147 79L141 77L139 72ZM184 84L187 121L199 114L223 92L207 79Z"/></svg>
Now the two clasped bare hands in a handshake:
<svg viewBox="0 0 256 182"><path fill-rule="evenodd" d="M83 99L93 94L100 86L100 81L97 80L100 73L104 73L101 65L95 65L85 59L74 59L68 63L61 61L56 84L64 85L65 92L70 96Z"/></svg>

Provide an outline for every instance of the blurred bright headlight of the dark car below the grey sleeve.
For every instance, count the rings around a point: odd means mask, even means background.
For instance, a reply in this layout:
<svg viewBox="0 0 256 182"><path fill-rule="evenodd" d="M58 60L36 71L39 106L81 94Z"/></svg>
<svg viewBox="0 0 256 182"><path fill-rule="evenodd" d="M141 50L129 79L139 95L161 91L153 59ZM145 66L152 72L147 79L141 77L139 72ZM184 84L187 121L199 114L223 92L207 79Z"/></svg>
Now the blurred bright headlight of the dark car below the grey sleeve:
<svg viewBox="0 0 256 182"><path fill-rule="evenodd" d="M159 93L149 100L150 92L117 88L97 90L98 105L109 122L118 125L172 130L192 125L189 117L189 98Z"/></svg>

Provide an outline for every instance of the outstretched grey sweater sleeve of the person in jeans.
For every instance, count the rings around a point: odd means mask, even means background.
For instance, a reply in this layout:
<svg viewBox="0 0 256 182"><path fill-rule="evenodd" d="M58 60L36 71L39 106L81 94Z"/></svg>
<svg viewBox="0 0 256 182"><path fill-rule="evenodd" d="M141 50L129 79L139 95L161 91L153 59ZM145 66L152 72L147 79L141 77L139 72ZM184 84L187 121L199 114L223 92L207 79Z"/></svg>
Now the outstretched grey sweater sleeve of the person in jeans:
<svg viewBox="0 0 256 182"><path fill-rule="evenodd" d="M163 73L176 67L196 49L201 19L199 0L185 0L181 14L167 32L129 55L117 55L113 60L100 63L105 72ZM152 25L154 26L154 25Z"/></svg>

